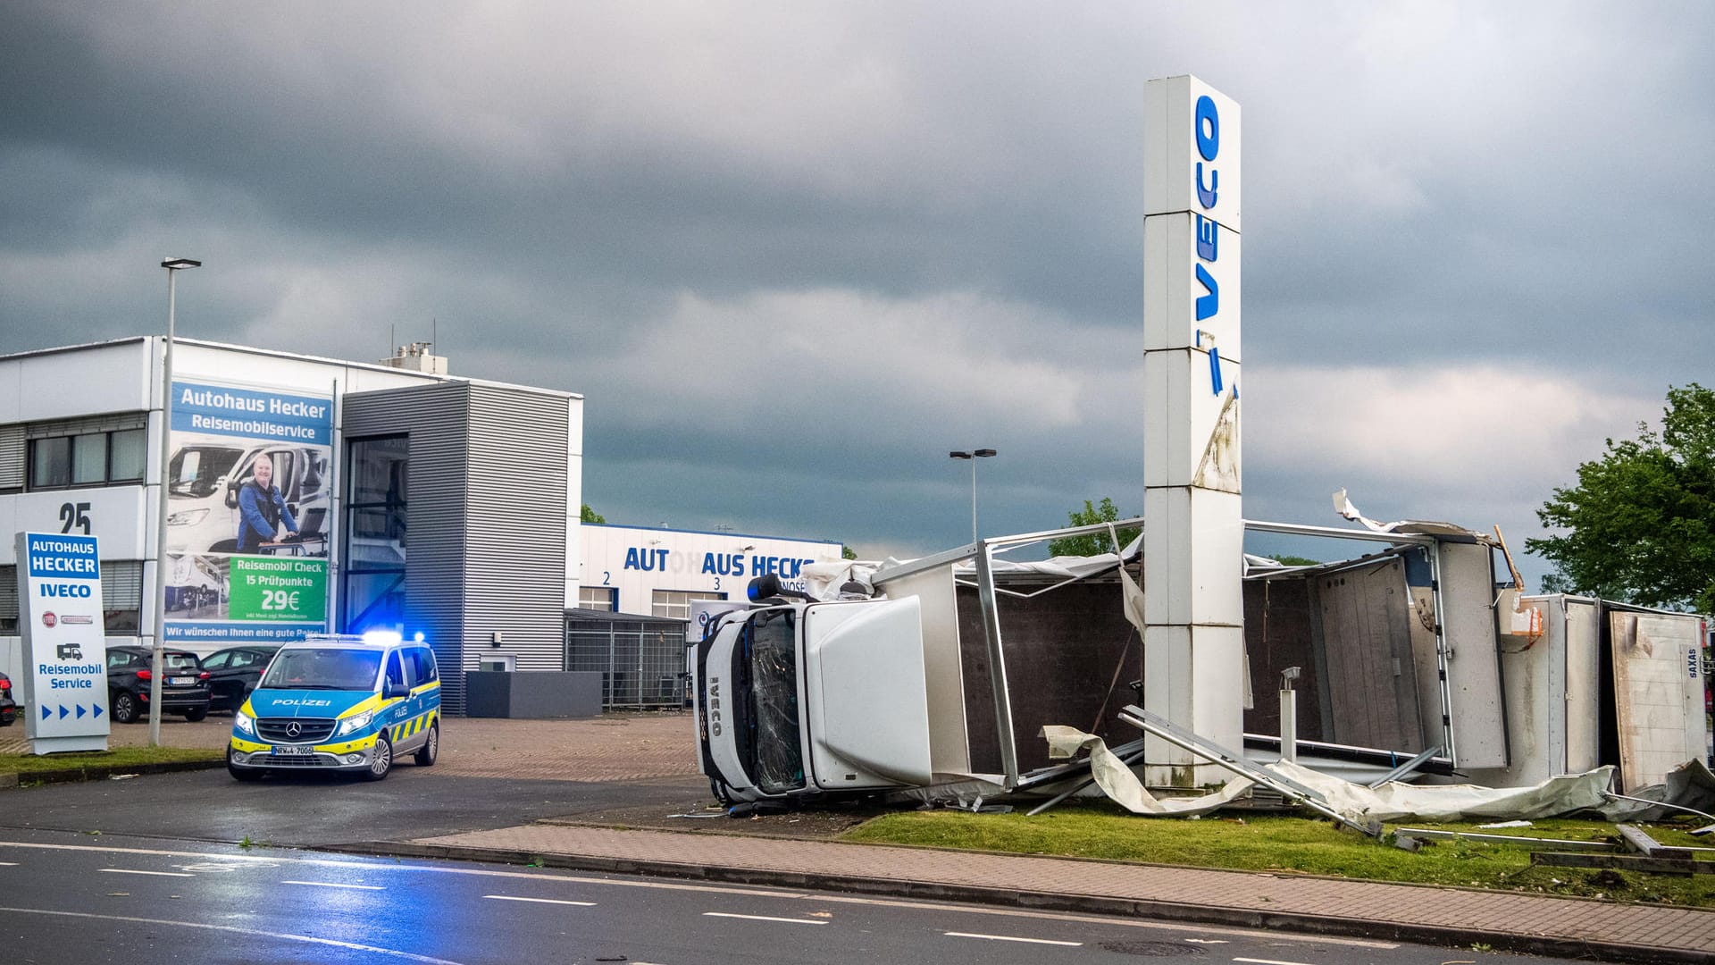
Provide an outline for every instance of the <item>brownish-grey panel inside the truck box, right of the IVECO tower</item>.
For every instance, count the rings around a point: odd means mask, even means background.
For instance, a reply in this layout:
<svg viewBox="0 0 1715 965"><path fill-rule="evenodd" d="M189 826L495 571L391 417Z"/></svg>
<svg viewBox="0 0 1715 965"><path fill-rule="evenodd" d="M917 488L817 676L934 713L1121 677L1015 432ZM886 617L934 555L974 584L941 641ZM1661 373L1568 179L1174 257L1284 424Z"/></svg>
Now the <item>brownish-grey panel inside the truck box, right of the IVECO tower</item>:
<svg viewBox="0 0 1715 965"><path fill-rule="evenodd" d="M1387 560L1315 580L1326 692L1336 743L1423 750L1405 563Z"/></svg>

